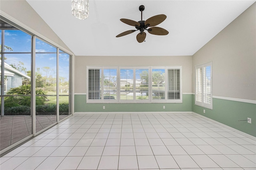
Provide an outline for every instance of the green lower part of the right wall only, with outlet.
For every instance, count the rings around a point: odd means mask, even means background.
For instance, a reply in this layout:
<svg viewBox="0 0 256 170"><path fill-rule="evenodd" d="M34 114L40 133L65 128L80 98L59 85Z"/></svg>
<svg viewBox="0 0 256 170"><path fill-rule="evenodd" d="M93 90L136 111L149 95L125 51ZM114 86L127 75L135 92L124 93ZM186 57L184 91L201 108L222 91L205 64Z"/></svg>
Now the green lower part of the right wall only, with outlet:
<svg viewBox="0 0 256 170"><path fill-rule="evenodd" d="M195 103L194 95L192 100ZM212 99L212 104L212 110L193 104L193 112L256 136L256 104L215 98ZM247 120L248 117L252 119L252 124L247 121L238 121Z"/></svg>

